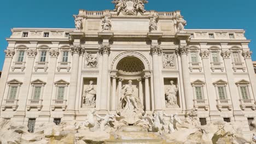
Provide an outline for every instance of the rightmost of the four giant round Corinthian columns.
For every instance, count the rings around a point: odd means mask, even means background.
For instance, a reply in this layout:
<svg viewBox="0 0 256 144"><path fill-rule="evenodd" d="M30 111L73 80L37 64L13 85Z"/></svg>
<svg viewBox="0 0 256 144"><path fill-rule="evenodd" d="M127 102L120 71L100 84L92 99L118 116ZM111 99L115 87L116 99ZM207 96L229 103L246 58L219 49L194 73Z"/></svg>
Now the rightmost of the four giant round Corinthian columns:
<svg viewBox="0 0 256 144"><path fill-rule="evenodd" d="M179 46L176 50L179 55L181 55L182 61L182 76L183 76L183 87L185 95L186 109L193 109L193 96L190 93L190 77L189 77L189 65L188 65L188 47Z"/></svg>

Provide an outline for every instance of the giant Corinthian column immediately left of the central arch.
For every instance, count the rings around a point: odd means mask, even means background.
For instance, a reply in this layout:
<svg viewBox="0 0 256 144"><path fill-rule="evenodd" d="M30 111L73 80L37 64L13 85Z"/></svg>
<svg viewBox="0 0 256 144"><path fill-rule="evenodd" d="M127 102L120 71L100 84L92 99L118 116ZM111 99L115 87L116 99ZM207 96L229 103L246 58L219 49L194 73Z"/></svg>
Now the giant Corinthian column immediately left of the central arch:
<svg viewBox="0 0 256 144"><path fill-rule="evenodd" d="M110 53L109 45L100 47L102 55L102 70L101 70L101 96L100 96L100 111L107 111L108 106L108 56Z"/></svg>

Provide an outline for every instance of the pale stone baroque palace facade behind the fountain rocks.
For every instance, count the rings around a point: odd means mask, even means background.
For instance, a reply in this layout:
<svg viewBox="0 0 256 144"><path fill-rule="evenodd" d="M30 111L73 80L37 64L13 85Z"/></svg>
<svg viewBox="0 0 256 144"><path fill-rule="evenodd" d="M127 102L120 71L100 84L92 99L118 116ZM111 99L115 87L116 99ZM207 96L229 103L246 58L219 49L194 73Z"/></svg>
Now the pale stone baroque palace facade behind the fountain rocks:
<svg viewBox="0 0 256 144"><path fill-rule="evenodd" d="M115 10L79 10L75 28L11 29L0 117L36 127L84 121L91 109L118 112L126 100L179 117L195 110L201 124L245 121L249 131L256 79L244 30L184 29L180 11L114 3Z"/></svg>

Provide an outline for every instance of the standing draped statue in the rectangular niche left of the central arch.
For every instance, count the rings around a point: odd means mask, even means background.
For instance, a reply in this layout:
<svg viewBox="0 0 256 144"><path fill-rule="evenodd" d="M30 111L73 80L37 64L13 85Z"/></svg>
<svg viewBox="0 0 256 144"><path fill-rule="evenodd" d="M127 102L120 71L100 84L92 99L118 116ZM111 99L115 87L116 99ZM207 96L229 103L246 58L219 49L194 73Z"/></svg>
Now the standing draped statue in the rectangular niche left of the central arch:
<svg viewBox="0 0 256 144"><path fill-rule="evenodd" d="M83 94L83 104L85 106L95 106L95 100L96 100L96 91L94 89L93 85L94 81L90 81L89 86L85 88L84 94Z"/></svg>

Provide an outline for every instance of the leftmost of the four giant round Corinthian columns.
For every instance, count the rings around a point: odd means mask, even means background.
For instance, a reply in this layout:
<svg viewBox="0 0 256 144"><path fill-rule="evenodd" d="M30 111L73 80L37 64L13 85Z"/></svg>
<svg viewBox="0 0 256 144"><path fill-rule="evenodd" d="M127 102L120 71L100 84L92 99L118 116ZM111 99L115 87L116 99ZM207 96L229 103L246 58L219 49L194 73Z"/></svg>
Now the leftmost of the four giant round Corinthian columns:
<svg viewBox="0 0 256 144"><path fill-rule="evenodd" d="M71 49L72 51L72 70L71 70L71 78L69 85L69 96L68 96L68 107L67 111L73 112L69 113L69 115L75 115L75 98L77 95L77 82L78 82L78 69L79 69L79 57L84 49L80 45L74 45Z"/></svg>

